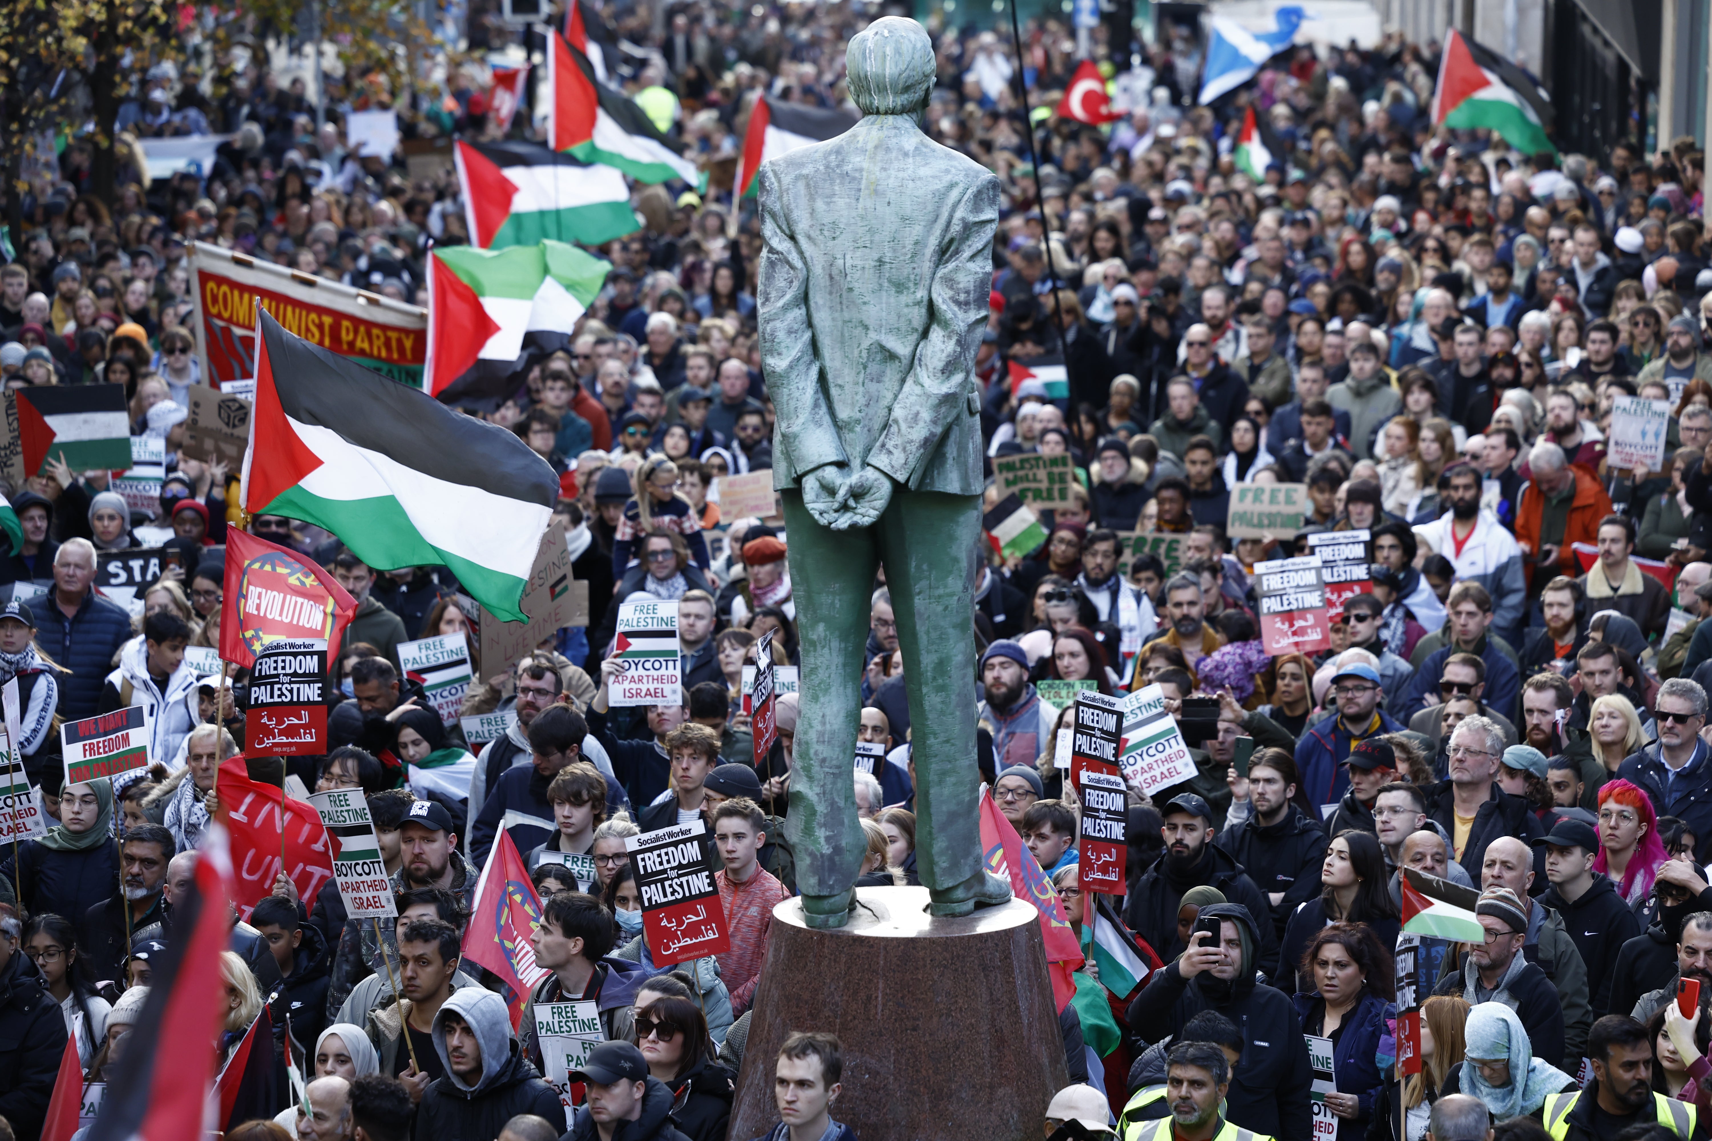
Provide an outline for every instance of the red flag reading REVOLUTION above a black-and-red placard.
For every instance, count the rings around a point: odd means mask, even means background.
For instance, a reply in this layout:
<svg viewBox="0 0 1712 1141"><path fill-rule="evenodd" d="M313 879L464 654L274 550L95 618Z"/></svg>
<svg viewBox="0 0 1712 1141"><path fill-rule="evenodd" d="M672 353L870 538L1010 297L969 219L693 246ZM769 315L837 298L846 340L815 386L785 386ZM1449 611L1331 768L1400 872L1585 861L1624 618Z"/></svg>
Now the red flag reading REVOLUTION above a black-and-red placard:
<svg viewBox="0 0 1712 1141"><path fill-rule="evenodd" d="M356 612L356 599L313 559L241 530L226 532L226 606L219 655L245 669L279 638L324 640L337 650Z"/></svg>

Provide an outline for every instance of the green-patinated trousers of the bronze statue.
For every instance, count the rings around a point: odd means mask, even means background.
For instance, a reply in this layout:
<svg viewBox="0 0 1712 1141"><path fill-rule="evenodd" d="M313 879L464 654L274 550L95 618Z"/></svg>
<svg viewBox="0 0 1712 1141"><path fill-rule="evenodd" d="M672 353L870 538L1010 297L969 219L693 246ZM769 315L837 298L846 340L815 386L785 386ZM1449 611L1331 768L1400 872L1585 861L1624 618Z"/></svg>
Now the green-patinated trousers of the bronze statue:
<svg viewBox="0 0 1712 1141"><path fill-rule="evenodd" d="M805 908L842 895L866 854L856 821L856 730L870 594L883 561L904 650L916 761L916 866L933 890L981 871L974 760L974 595L978 496L899 491L870 529L822 527L784 491L801 645L801 713L786 837Z"/></svg>

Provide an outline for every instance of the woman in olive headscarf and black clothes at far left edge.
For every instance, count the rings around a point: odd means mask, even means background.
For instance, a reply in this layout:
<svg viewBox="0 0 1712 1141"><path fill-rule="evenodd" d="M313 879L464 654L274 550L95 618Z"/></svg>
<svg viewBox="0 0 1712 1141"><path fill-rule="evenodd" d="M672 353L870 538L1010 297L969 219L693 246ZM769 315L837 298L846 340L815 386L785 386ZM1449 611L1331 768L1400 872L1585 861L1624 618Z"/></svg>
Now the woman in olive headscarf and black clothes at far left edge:
<svg viewBox="0 0 1712 1141"><path fill-rule="evenodd" d="M9 845L10 847L10 845ZM103 777L60 790L60 823L38 840L7 850L0 878L22 890L34 915L82 915L113 895L118 843L113 840L113 782Z"/></svg>

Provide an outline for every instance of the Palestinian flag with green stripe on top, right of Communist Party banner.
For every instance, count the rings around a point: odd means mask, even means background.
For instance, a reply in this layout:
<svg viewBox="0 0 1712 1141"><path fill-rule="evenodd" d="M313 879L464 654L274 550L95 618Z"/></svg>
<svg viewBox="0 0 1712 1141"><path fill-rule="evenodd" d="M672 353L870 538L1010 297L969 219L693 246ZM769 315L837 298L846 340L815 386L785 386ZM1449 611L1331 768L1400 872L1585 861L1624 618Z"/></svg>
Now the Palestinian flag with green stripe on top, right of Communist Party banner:
<svg viewBox="0 0 1712 1141"><path fill-rule="evenodd" d="M536 359L570 344L609 263L563 241L428 257L428 395L503 400Z"/></svg>

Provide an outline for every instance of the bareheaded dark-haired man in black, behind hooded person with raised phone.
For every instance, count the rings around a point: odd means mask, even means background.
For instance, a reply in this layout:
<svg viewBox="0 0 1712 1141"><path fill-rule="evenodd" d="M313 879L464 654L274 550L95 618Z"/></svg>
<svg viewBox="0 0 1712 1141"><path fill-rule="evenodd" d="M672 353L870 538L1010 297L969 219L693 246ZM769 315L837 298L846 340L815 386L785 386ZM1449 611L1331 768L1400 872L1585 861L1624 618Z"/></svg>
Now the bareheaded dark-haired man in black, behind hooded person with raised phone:
<svg viewBox="0 0 1712 1141"><path fill-rule="evenodd" d="M1267 896L1274 936L1282 939L1291 913L1320 895L1317 869L1325 860L1325 831L1296 806L1296 761L1284 749L1257 753L1246 782L1231 775L1233 801L1245 794L1253 816L1228 826L1214 843L1243 867L1257 869L1255 886Z"/></svg>

